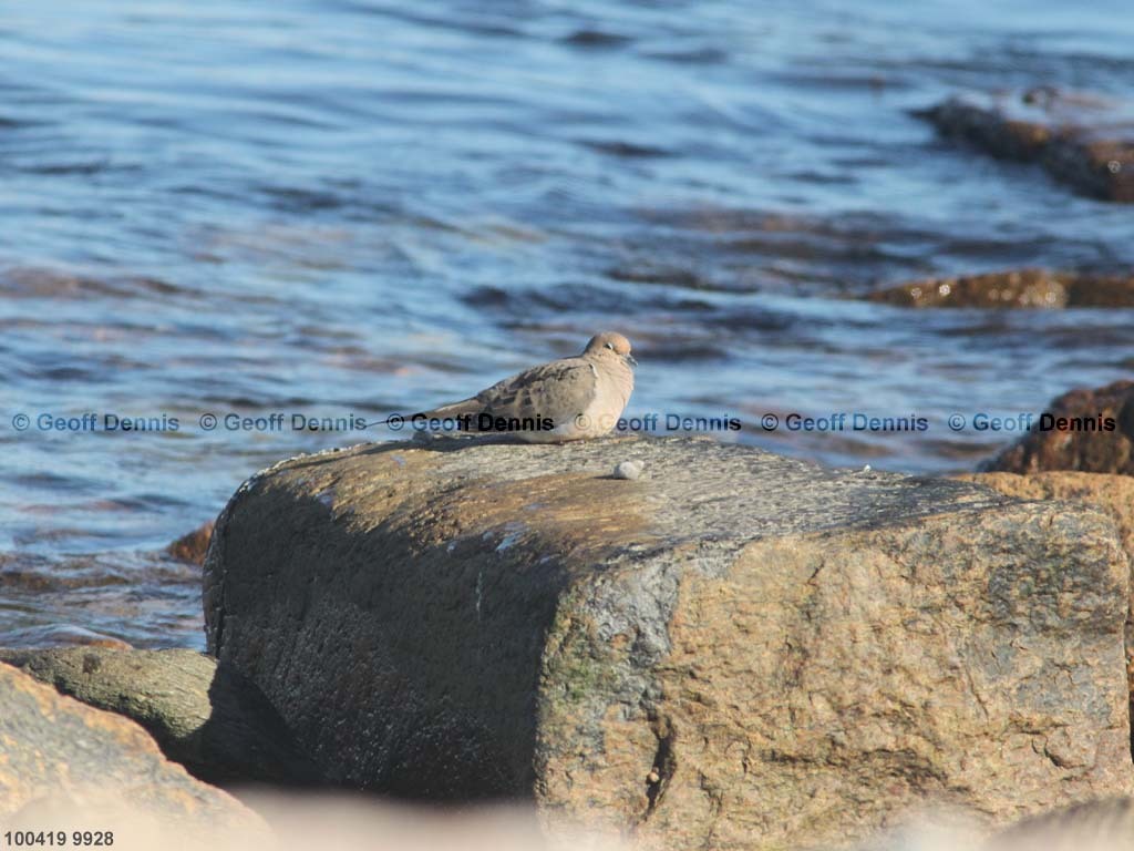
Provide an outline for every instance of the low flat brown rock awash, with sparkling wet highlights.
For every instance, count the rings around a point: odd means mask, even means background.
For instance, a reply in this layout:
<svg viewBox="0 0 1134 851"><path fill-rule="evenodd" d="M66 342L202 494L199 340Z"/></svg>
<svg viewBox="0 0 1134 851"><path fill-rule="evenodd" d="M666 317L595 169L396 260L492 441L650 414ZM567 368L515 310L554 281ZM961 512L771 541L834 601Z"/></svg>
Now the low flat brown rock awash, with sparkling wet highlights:
<svg viewBox="0 0 1134 851"><path fill-rule="evenodd" d="M1127 307L1134 276L1018 269L926 278L869 296L908 307Z"/></svg>

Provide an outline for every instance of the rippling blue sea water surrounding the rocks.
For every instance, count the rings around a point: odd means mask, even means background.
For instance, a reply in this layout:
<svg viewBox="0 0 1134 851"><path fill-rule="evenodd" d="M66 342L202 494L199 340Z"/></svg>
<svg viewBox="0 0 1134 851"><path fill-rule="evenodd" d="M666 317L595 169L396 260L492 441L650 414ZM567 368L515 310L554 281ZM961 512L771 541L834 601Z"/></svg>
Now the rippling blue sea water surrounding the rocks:
<svg viewBox="0 0 1134 851"><path fill-rule="evenodd" d="M1039 411L1134 363L1128 309L862 301L1024 267L1128 273L1128 208L911 116L958 92L1128 98L1125 3L9 7L0 642L70 624L200 643L195 571L158 554L254 470L388 436L204 431L204 413L374 421L611 327L642 361L632 414L945 471L1012 437L950 432L950 413ZM837 411L933 427L760 428ZM180 428L36 424L87 413Z"/></svg>

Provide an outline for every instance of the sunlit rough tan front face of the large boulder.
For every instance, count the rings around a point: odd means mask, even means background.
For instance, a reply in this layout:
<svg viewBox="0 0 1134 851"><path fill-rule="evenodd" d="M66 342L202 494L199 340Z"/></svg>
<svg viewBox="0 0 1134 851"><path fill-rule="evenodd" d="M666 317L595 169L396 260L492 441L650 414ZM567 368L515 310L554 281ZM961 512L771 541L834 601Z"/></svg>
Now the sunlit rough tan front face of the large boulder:
<svg viewBox="0 0 1134 851"><path fill-rule="evenodd" d="M604 740L632 752L595 766L562 732L581 709L552 703L566 718L556 719L548 745L562 750L545 770L564 782L545 800L578 812L598 798L612 821L640 814L640 836L666 843L700 825L696 839L710 848L742 849L802 837L835 845L844 831L865 835L926 798L1009 818L1127 787L1122 689L1100 703L1086 686L1081 699L1092 709L1052 716L1050 683L1068 663L1078 667L1070 659L1082 646L1052 634L1036 652L1035 634L1053 624L1029 624L1059 612L1065 634L1085 638L1093 605L1073 600L1093 596L1091 580L1073 587L1058 576L1058 557L1022 574L1001 549L1014 522L1052 531L1027 511L975 534L964 517L926 520L756 542L727 578L687 578L657 719L627 723L608 709ZM1105 538L1083 545L1114 558ZM1050 597L1052 581L1072 582L1061 599ZM1047 614L1036 610L1041 597ZM1112 618L1101 664L1114 684L1122 662ZM652 797L641 781L650 769L660 774ZM586 782L567 780L578 776ZM635 780L644 800L626 800Z"/></svg>

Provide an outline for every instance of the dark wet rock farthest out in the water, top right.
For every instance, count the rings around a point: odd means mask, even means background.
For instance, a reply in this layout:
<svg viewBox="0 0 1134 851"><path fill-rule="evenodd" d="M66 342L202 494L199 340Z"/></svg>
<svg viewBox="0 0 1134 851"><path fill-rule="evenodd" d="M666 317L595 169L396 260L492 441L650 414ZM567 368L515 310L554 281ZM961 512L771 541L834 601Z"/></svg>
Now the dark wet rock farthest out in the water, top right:
<svg viewBox="0 0 1134 851"><path fill-rule="evenodd" d="M1134 202L1134 115L1126 106L1049 89L950 98L915 115L993 157L1038 162L1081 194Z"/></svg>

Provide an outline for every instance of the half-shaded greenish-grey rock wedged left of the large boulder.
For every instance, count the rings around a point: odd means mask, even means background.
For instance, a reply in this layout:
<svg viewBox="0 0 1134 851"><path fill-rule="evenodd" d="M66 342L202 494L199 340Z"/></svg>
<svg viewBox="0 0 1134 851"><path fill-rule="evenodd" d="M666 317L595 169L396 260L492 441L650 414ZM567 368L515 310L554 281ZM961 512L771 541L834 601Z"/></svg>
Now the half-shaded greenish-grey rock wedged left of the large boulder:
<svg viewBox="0 0 1134 851"><path fill-rule="evenodd" d="M314 766L259 690L193 650L0 650L0 662L145 727L209 783L313 784Z"/></svg>

